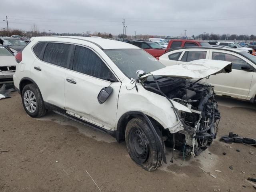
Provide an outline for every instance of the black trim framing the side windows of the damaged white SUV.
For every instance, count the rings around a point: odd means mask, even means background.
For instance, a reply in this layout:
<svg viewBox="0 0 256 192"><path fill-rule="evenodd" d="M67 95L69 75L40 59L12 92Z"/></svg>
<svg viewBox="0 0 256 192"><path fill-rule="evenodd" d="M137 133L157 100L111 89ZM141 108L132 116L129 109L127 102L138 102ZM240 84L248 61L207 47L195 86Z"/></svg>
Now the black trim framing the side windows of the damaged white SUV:
<svg viewBox="0 0 256 192"><path fill-rule="evenodd" d="M38 44L38 43L40 43L40 42L41 42L41 43L46 43L46 45L45 45L44 48L42 49L42 52L40 53L40 56L41 56L41 54L42 54L42 58L44 58L44 51L45 51L45 48L46 48L46 46L48 45L48 43L63 43L63 44L70 44L71 46L73 45L74 48L71 48L71 51L70 51L70 54L69 54L70 57L68 57L69 60L68 60L68 63L67 63L67 66L71 66L71 69L70 69L70 68L67 68L67 67L62 67L62 66L59 66L59 65L55 65L55 64L52 64L52 63L48 63L48 62L46 62L46 61L44 61L44 60L38 58L38 57L36 56L36 54L34 53L33 48L34 48L34 46L36 46L36 44ZM88 48L88 49L92 50L92 51L102 60L102 62L104 62L104 64L108 67L108 69L112 72L113 76L116 78L116 79L115 79L115 82L121 82L121 80L120 80L120 79L118 78L118 76L115 74L114 70L112 70L112 68L107 64L107 62L102 58L102 56L100 56L100 54L98 54L98 52L96 52L96 50L94 50L94 49L91 48L91 47L88 47L88 46L82 45L82 44L70 43L70 42L61 42L61 41L38 41L38 42L36 42L36 44L34 44L34 45L31 47L31 51L32 51L32 53L34 54L34 56L35 56L36 58L38 58L40 61L42 61L42 62L44 62L44 63L46 63L46 64L50 64L50 65L54 65L54 66L57 66L57 67L64 68L64 69L66 69L66 70L74 71L74 72L76 72L76 73L80 73L80 74L83 74L83 75L86 75L86 76L90 76L90 75L84 74L84 73L81 73L81 72L78 72L78 71L73 70L73 61L74 61L74 54L75 54L75 48L76 48L76 46L82 46L82 47ZM104 54L105 54L105 53L104 53ZM94 77L94 76L90 76L90 77L97 78L97 77ZM108 81L108 80L101 79L101 78L97 78L97 79L100 79L100 80L103 80L103 81L106 81L106 82L110 82L110 81Z"/></svg>

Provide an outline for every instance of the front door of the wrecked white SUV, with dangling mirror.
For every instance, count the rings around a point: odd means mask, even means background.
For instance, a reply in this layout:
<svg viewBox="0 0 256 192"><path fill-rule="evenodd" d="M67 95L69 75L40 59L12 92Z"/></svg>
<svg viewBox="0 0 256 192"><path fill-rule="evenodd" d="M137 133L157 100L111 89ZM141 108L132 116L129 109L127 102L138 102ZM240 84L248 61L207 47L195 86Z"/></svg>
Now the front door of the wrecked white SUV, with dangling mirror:
<svg viewBox="0 0 256 192"><path fill-rule="evenodd" d="M66 112L101 128L114 129L121 82L91 48L76 46L72 57L72 70L68 70L65 78ZM98 94L108 86L113 92L100 104Z"/></svg>

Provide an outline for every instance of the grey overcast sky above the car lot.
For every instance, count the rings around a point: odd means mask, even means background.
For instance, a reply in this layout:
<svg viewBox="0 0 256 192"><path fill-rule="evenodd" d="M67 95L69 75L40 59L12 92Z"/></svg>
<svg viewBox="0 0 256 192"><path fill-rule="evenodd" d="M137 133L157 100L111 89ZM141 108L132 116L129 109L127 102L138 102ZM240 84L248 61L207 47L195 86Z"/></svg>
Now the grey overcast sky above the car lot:
<svg viewBox="0 0 256 192"><path fill-rule="evenodd" d="M0 0L0 28L184 35L256 34L255 0Z"/></svg>

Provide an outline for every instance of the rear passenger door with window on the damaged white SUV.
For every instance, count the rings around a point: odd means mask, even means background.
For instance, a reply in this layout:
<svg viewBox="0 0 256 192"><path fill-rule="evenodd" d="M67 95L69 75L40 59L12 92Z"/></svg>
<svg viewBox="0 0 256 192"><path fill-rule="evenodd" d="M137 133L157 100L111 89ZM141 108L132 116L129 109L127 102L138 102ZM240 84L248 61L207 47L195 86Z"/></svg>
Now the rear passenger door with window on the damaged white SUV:
<svg viewBox="0 0 256 192"><path fill-rule="evenodd" d="M64 108L64 82L72 45L39 42L32 49L37 58L31 67L31 77L38 85L44 102Z"/></svg>

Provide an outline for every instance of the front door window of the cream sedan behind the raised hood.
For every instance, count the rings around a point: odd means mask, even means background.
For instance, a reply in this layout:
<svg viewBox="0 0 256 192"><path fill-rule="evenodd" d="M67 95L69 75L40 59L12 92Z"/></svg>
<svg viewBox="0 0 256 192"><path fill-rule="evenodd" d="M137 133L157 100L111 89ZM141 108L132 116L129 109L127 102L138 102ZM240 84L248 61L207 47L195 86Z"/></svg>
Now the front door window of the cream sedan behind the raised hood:
<svg viewBox="0 0 256 192"><path fill-rule="evenodd" d="M247 63L237 56L220 52L212 52L212 59L232 62L232 69L238 70L241 70L241 66Z"/></svg>

